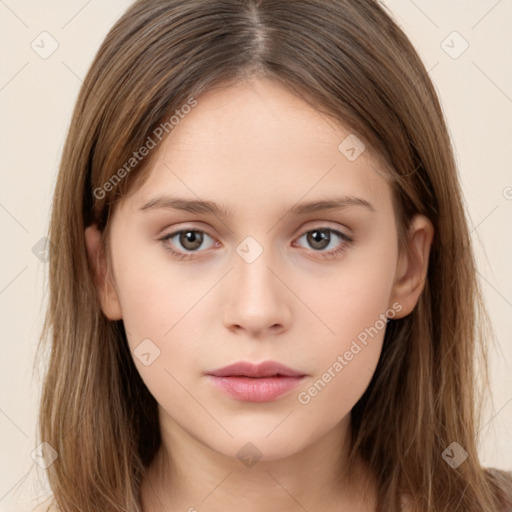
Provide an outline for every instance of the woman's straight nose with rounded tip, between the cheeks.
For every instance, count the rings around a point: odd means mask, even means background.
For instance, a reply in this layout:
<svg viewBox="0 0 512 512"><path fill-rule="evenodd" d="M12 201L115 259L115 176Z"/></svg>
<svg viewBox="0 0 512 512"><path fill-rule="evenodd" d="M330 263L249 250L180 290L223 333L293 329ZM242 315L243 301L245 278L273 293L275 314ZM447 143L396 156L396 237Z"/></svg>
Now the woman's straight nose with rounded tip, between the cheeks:
<svg viewBox="0 0 512 512"><path fill-rule="evenodd" d="M223 311L224 325L252 337L280 333L290 325L289 301L293 296L286 285L283 266L277 264L266 247L261 247L263 250L258 250L255 258L254 246L249 245L252 257L246 257L243 249L239 247L234 255L234 268L228 280L229 300Z"/></svg>

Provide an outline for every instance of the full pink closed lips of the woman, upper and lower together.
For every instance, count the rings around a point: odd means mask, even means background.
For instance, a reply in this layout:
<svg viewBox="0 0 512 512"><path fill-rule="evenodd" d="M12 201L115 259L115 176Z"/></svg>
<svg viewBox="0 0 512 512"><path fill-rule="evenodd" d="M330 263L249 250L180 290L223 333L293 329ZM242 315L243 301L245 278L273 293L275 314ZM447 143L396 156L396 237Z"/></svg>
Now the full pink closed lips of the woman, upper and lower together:
<svg viewBox="0 0 512 512"><path fill-rule="evenodd" d="M214 370L207 376L233 398L246 402L270 402L297 387L306 375L275 361L258 365L240 361Z"/></svg>

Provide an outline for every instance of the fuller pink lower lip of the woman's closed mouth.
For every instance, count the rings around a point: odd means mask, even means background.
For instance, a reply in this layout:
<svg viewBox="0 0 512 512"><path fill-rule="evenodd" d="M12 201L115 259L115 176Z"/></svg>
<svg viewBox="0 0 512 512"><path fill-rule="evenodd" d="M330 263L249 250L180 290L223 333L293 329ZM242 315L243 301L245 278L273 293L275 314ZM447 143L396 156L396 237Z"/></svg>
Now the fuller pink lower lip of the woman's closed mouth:
<svg viewBox="0 0 512 512"><path fill-rule="evenodd" d="M213 384L233 398L245 402L271 402L296 388L304 377L216 377Z"/></svg>

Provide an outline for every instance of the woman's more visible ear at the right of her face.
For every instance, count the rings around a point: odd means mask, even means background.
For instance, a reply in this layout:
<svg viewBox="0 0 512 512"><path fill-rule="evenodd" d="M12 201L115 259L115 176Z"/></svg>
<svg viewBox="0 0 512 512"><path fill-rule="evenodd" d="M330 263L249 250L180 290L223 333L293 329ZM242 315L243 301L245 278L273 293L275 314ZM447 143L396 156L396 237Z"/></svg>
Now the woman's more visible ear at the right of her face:
<svg viewBox="0 0 512 512"><path fill-rule="evenodd" d="M428 271L434 227L424 215L416 215L407 233L407 249L401 249L391 293L391 304L402 305L394 318L407 316L416 306Z"/></svg>

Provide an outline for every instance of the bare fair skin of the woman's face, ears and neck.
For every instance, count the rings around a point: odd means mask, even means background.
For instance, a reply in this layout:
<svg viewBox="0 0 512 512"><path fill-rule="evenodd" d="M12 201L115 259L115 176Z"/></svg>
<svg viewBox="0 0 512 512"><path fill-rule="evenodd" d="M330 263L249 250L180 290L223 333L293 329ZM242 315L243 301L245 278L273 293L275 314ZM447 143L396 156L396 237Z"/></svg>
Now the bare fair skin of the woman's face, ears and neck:
<svg viewBox="0 0 512 512"><path fill-rule="evenodd" d="M360 343L307 404L298 394L386 311L394 318L412 311L433 228L416 216L411 254L399 252L391 189L375 171L381 163L369 148L347 159L338 145L348 134L269 79L211 90L158 147L149 179L114 210L108 254L96 227L87 228L103 312L123 319L132 356L144 339L160 350L148 366L134 356L159 404L162 434L142 482L146 512L375 510L374 475L362 461L346 479L346 440L385 329ZM233 215L140 210L159 194L214 201ZM332 195L362 198L375 211L289 212ZM319 248L308 232L320 228L354 241L331 233ZM159 240L180 229L207 235L195 252L179 235ZM263 249L251 263L236 252L247 236ZM166 246L195 256L178 260ZM204 376L240 360L275 360L308 376L273 402L244 402ZM248 442L261 455L251 467L237 456Z"/></svg>

